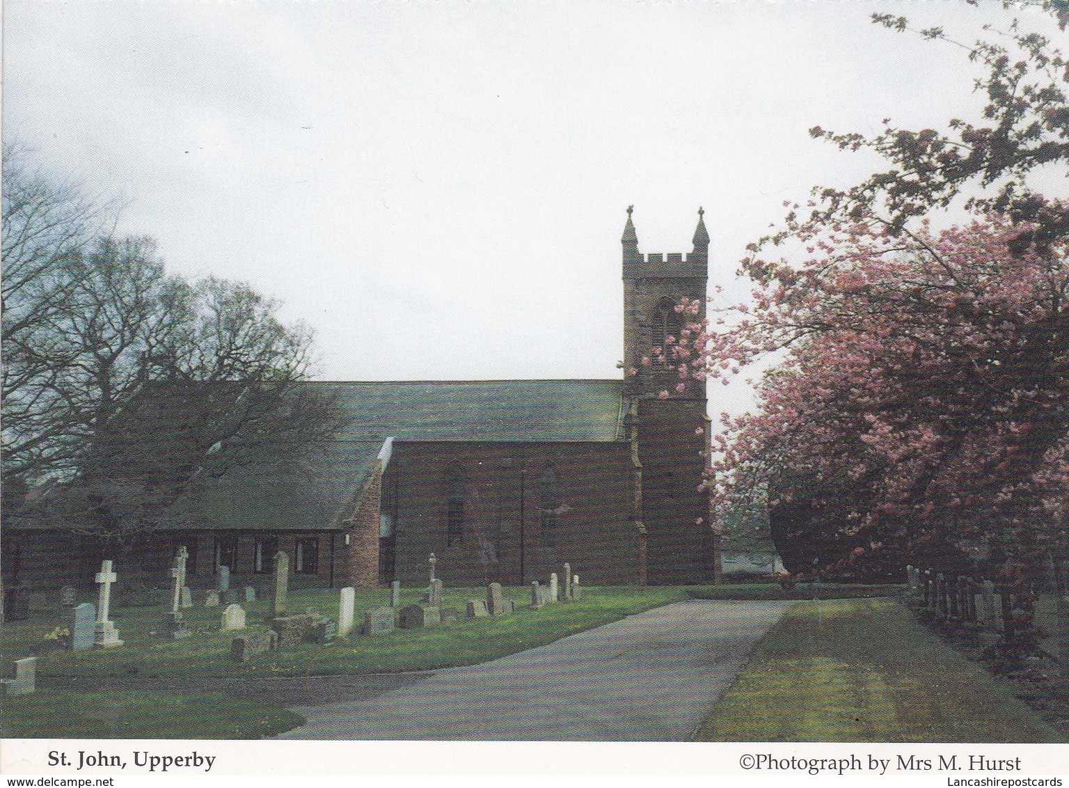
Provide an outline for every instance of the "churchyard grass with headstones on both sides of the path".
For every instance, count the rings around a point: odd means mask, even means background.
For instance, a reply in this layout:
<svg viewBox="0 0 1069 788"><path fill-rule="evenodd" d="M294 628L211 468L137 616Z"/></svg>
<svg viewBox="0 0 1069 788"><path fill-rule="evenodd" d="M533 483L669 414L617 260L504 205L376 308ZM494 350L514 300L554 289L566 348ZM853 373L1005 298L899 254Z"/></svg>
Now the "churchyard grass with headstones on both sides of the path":
<svg viewBox="0 0 1069 788"><path fill-rule="evenodd" d="M326 702L346 677L479 664L671 602L719 599L793 604L699 739L1069 739L1064 675L1055 673L1051 685L1065 702L1044 722L1006 681L924 625L952 622L974 648L994 642L1001 602L966 578L910 568L904 585L585 587L564 563L564 581L553 573L525 587L452 588L436 576L432 554L425 586L298 590L289 588L289 558L279 553L267 588L232 588L222 567L214 588L191 589L185 558L180 551L152 594L117 594L122 569L106 560L92 578L95 593L88 584L64 587L7 611L3 735L269 737L301 725L289 709ZM1064 605L1047 597L1038 613L1048 629L1043 648L1062 654Z"/></svg>

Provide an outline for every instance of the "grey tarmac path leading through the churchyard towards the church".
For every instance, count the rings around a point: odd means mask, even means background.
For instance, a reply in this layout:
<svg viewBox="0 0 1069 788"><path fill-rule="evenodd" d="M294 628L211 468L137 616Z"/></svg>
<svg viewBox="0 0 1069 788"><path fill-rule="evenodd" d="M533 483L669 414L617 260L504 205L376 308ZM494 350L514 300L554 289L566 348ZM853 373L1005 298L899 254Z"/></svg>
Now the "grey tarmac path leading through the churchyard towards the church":
<svg viewBox="0 0 1069 788"><path fill-rule="evenodd" d="M276 738L686 741L790 602L686 600L370 697Z"/></svg>

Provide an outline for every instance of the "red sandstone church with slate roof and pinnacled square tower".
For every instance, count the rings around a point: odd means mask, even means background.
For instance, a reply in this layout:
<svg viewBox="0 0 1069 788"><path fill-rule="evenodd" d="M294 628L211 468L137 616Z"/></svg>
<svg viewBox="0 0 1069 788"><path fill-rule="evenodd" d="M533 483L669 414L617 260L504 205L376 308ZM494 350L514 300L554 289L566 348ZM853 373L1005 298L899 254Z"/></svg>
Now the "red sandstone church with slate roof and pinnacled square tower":
<svg viewBox="0 0 1069 788"><path fill-rule="evenodd" d="M219 566L234 584L266 586L278 550L298 587L425 585L431 553L454 587L544 582L564 561L585 586L714 581L717 537L699 490L704 383L678 392L673 371L642 364L678 336L681 299L704 316L709 234L699 210L690 253L644 254L631 213L621 380L309 384L334 395L348 426L307 474L220 481L195 527L157 535L127 566L115 558L117 571L166 577L186 545L195 586ZM5 584L44 571L58 586L113 557L59 541L5 539L22 575L7 576L9 552Z"/></svg>

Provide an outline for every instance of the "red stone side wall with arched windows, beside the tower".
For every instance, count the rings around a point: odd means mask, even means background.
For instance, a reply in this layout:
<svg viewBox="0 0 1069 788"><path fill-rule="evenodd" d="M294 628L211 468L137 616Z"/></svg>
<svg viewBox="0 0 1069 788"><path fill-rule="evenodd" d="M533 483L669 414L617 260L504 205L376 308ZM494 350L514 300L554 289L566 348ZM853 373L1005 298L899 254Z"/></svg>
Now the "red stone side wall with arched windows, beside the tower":
<svg viewBox="0 0 1069 788"><path fill-rule="evenodd" d="M398 442L393 577L425 585L428 556L450 586L546 582L564 561L584 585L638 582L630 446Z"/></svg>

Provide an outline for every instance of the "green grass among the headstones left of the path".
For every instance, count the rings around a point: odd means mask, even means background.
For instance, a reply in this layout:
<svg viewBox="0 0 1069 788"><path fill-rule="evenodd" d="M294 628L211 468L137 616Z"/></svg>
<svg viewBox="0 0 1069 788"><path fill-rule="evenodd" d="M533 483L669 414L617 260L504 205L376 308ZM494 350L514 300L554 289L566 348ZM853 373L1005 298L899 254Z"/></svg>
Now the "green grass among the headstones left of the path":
<svg viewBox="0 0 1069 788"><path fill-rule="evenodd" d="M506 588L520 604L529 604L527 588ZM388 591L358 592L356 609L382 605ZM417 602L423 589L402 589L402 604ZM220 633L221 608L185 611L193 634L168 640L150 634L159 625L158 607L120 607L113 620L124 645L110 650L63 651L37 661L35 695L5 698L0 733L5 737L255 739L295 727L303 717L267 705L228 698L217 692L219 680L264 676L327 676L398 673L470 665L551 643L566 635L615 621L668 602L686 599L681 588L584 588L583 597L543 609L518 607L512 616L463 618L465 600L483 599L485 589L446 589L445 606L460 608L458 621L423 630L397 630L372 637L336 638L328 646L305 645L277 650L247 663L230 660L230 640ZM338 614L337 591L297 591L290 597L295 612L311 607ZM263 620L266 602L246 606L248 621ZM30 653L59 622L53 614L32 613L27 621L9 621L0 632L6 675L12 660ZM81 677L86 693L50 692L49 677ZM149 684L183 679L188 687L152 691L93 692L93 679L136 677ZM204 709L227 709L224 719ZM117 713L118 710L122 713ZM196 710L196 711L190 711ZM113 722L123 720L124 723Z"/></svg>

